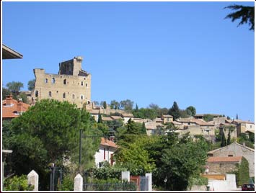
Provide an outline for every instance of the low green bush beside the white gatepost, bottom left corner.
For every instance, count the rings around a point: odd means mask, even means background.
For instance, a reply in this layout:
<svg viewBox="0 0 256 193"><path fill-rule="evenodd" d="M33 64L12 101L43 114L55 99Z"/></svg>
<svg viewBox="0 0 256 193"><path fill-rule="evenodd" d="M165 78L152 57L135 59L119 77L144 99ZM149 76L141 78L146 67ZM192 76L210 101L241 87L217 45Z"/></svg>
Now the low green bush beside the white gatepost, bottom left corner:
<svg viewBox="0 0 256 193"><path fill-rule="evenodd" d="M27 184L27 176L14 176L4 180L4 191L32 191L34 186Z"/></svg>

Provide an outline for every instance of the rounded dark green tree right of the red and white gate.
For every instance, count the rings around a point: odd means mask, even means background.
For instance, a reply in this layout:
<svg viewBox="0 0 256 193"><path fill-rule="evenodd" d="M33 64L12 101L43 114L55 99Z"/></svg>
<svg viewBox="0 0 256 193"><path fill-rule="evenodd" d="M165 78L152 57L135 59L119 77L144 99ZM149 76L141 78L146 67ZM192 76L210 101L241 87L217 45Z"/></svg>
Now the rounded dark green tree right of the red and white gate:
<svg viewBox="0 0 256 193"><path fill-rule="evenodd" d="M202 140L187 140L169 146L163 151L162 166L154 174L156 183L164 187L164 178L167 178L167 190L186 190L190 178L199 177L203 171L207 151L208 145Z"/></svg>

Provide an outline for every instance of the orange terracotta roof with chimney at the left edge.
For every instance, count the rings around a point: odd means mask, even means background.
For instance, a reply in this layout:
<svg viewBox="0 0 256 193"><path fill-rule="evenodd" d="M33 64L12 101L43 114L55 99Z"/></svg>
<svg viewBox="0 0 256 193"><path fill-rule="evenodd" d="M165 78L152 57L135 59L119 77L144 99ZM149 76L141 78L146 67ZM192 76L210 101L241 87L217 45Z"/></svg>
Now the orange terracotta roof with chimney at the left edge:
<svg viewBox="0 0 256 193"><path fill-rule="evenodd" d="M12 95L6 96L6 99L2 104L2 117L3 118L14 118L19 117L19 112L26 112L29 109L30 104L24 102L18 102L12 99Z"/></svg>

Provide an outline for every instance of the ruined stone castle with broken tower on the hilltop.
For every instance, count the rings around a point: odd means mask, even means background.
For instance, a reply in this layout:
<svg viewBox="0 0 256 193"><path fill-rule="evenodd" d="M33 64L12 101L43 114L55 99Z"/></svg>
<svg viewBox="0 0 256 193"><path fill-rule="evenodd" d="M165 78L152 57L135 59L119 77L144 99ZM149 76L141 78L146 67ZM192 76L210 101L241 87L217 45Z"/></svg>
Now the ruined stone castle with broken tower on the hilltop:
<svg viewBox="0 0 256 193"><path fill-rule="evenodd" d="M81 69L81 56L59 63L58 74L34 69L35 89L32 101L57 99L76 104L78 108L91 103L91 74ZM89 107L91 105L88 105Z"/></svg>

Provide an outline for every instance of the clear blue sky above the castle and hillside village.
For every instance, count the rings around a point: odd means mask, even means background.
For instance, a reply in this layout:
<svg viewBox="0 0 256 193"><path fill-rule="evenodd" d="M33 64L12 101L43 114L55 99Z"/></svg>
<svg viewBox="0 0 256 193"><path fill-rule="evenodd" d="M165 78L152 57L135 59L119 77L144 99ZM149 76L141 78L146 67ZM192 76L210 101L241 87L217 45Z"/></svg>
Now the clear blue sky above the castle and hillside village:
<svg viewBox="0 0 256 193"><path fill-rule="evenodd" d="M2 86L58 73L82 55L92 101L131 99L243 120L255 117L255 35L224 19L231 4L254 2L2 2Z"/></svg>

